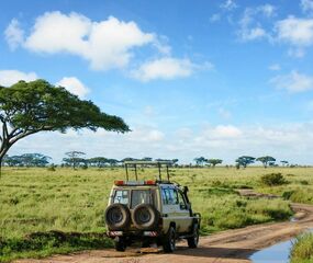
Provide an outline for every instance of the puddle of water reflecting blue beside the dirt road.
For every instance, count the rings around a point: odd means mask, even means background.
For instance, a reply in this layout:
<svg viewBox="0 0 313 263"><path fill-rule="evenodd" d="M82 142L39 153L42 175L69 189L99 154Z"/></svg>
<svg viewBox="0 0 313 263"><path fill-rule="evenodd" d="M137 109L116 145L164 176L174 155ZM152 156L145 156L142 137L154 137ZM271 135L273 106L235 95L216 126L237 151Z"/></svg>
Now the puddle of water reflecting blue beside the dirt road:
<svg viewBox="0 0 313 263"><path fill-rule="evenodd" d="M292 240L275 244L254 253L250 260L254 263L288 263Z"/></svg>

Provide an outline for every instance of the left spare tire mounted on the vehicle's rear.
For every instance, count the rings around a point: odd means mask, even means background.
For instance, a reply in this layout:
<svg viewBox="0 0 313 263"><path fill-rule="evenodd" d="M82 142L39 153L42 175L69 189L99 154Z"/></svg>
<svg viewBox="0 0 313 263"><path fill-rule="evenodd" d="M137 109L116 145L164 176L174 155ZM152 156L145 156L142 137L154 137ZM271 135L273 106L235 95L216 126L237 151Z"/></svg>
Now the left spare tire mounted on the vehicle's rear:
<svg viewBox="0 0 313 263"><path fill-rule="evenodd" d="M105 210L105 224L109 230L123 230L130 226L131 213L126 205L112 204Z"/></svg>

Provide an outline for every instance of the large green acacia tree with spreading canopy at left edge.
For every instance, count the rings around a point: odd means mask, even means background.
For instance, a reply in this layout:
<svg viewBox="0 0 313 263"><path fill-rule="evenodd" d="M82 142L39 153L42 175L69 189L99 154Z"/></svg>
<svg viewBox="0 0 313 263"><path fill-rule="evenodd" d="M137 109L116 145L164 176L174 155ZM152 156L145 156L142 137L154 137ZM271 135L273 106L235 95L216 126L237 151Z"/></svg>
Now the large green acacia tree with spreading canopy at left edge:
<svg viewBox="0 0 313 263"><path fill-rule="evenodd" d="M45 80L0 87L0 164L12 145L40 132L66 133L69 128L130 132L122 118L108 115L91 101L82 101Z"/></svg>

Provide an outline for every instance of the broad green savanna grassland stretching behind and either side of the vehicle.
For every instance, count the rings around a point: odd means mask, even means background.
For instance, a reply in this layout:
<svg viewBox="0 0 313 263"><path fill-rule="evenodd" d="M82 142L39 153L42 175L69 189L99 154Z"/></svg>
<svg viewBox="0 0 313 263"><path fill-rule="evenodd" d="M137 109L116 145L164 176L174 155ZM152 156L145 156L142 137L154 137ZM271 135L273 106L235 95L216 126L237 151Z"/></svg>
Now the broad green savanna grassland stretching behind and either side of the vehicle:
<svg viewBox="0 0 313 263"><path fill-rule="evenodd" d="M261 175L278 172L289 184L265 186L261 183ZM312 173L312 168L170 170L172 181L189 186L193 209L203 217L203 235L288 219L291 216L289 201L313 201ZM139 170L139 178L143 174L153 179L157 171ZM112 242L101 235L105 231L103 211L116 179L124 179L123 169L4 168L0 180L0 261L111 247ZM246 198L239 196L236 188L291 194L286 201ZM55 242L51 231L62 232L67 238ZM37 239L29 239L36 232L47 235L40 245ZM24 242L29 247L20 250Z"/></svg>

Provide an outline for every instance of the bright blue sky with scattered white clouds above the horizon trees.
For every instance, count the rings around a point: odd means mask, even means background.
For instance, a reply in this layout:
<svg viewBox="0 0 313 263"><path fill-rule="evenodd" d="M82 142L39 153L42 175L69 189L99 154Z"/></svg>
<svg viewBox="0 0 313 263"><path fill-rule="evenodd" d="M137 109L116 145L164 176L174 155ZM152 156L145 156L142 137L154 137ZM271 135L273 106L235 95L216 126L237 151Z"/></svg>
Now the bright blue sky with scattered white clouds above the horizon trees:
<svg viewBox="0 0 313 263"><path fill-rule="evenodd" d="M46 79L132 132L41 133L9 155L313 164L313 0L11 0L0 84Z"/></svg>

